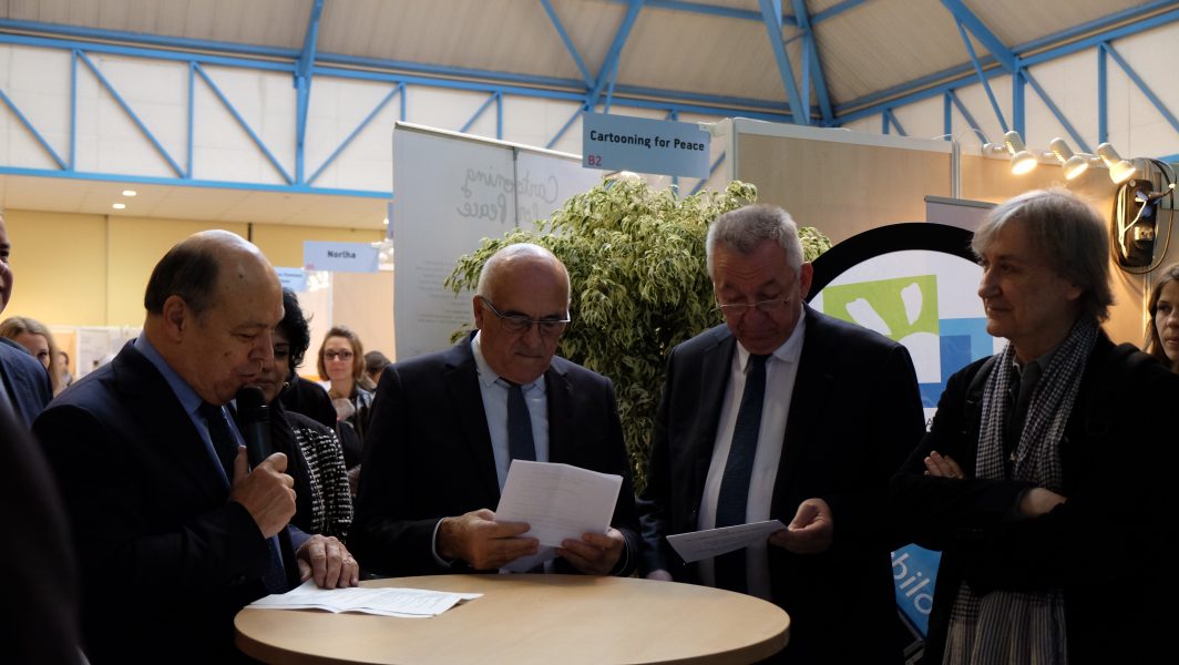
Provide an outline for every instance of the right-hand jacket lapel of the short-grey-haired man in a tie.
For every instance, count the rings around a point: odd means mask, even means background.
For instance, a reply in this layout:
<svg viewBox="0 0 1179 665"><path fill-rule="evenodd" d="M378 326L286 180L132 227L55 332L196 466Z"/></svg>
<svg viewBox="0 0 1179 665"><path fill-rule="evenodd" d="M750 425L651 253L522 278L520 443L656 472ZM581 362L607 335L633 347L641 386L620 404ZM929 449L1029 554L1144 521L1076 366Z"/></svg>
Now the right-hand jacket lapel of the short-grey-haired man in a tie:
<svg viewBox="0 0 1179 665"><path fill-rule="evenodd" d="M796 485L798 459L805 446L816 441L815 429L818 427L818 414L826 403L828 393L835 377L828 371L824 357L837 353L830 347L831 336L825 332L826 321L822 314L806 307L806 330L803 337L803 350L798 357L798 373L795 375L795 387L790 397L790 415L786 419L786 440L782 446L782 459L778 462L778 476L773 483L773 499L770 502L771 514L780 515L782 496L785 488ZM792 516L792 515L786 515Z"/></svg>

